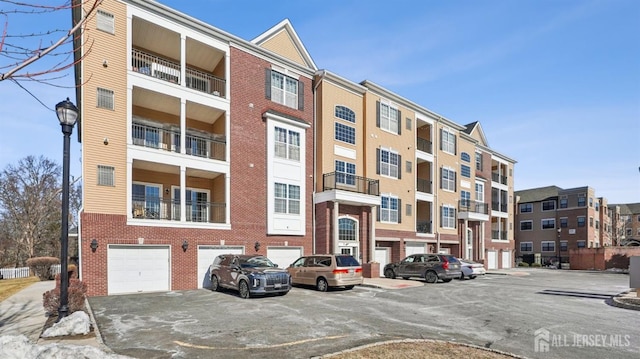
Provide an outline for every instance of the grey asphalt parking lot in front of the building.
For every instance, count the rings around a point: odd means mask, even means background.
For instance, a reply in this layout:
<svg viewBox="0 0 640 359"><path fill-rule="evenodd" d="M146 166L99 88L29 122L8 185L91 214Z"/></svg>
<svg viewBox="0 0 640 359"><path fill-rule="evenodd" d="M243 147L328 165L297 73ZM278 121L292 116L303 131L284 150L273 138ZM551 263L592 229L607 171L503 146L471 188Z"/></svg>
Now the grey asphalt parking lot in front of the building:
<svg viewBox="0 0 640 359"><path fill-rule="evenodd" d="M527 276L386 290L241 299L231 291L89 299L107 346L138 358L309 358L404 338L475 344L529 358L637 358L640 311L609 306L623 274L529 269ZM402 281L402 279L399 279Z"/></svg>

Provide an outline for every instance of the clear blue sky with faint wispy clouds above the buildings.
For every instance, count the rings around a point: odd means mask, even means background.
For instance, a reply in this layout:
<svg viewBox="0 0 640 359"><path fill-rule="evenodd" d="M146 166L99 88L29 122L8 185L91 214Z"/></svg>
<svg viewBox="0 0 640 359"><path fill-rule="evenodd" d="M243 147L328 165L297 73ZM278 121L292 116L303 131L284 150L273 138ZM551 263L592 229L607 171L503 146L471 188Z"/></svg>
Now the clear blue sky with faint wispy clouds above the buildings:
<svg viewBox="0 0 640 359"><path fill-rule="evenodd" d="M516 190L591 186L609 203L640 202L640 1L159 2L246 40L288 18L319 68L479 121L517 161ZM75 100L30 89L51 108ZM0 168L29 154L61 162L55 114L8 82L0 98ZM79 175L78 143L72 152Z"/></svg>

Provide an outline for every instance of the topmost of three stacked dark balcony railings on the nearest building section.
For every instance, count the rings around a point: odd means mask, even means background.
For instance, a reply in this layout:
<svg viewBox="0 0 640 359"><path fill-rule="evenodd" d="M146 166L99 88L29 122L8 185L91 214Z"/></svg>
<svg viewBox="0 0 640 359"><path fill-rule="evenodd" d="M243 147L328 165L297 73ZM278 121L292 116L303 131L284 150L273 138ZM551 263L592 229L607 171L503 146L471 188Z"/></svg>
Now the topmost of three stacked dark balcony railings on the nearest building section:
<svg viewBox="0 0 640 359"><path fill-rule="evenodd" d="M180 63L133 49L131 53L133 71L182 85L180 79ZM210 73L187 66L185 71L188 88L206 92L215 96L226 97L226 81Z"/></svg>

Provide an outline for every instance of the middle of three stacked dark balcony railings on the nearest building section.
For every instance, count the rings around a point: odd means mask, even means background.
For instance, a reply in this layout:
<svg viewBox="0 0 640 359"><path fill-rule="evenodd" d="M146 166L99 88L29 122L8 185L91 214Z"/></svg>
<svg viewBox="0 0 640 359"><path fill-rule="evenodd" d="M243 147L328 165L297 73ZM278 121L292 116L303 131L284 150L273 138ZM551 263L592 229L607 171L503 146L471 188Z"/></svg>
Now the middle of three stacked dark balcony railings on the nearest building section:
<svg viewBox="0 0 640 359"><path fill-rule="evenodd" d="M178 131L134 123L132 137L134 145L180 153L180 132ZM227 144L224 136L213 135L211 138L206 138L187 133L186 145L188 155L219 161L226 160Z"/></svg>

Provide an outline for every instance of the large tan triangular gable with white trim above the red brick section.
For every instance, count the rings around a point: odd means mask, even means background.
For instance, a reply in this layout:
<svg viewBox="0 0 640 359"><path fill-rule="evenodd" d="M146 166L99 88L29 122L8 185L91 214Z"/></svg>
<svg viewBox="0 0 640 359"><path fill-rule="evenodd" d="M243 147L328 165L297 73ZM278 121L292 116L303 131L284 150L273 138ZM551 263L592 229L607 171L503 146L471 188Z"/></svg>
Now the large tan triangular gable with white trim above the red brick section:
<svg viewBox="0 0 640 359"><path fill-rule="evenodd" d="M251 40L251 43L273 51L305 67L312 68L314 71L318 70L289 19L280 21L274 27Z"/></svg>

